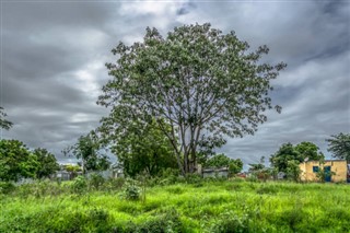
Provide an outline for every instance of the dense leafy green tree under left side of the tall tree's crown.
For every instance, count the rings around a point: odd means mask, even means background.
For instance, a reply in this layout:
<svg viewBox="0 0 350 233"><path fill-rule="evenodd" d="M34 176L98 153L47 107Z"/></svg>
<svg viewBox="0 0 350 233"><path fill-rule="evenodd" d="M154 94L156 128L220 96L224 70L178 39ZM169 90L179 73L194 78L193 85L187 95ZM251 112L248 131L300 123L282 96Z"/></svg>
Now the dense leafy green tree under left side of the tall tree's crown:
<svg viewBox="0 0 350 233"><path fill-rule="evenodd" d="M109 137L115 142L112 151L124 173L131 177L143 172L156 176L163 170L178 167L172 144L154 119L145 125L140 120L129 121L122 132L114 131Z"/></svg>

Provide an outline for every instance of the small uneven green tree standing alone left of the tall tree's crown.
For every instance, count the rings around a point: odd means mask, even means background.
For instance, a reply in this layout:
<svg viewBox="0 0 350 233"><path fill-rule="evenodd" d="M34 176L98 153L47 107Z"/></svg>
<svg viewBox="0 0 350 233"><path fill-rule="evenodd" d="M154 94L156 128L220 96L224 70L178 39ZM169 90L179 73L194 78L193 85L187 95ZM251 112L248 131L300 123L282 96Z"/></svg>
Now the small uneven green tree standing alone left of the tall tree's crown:
<svg viewBox="0 0 350 233"><path fill-rule="evenodd" d="M101 142L97 135L91 131L86 136L81 136L78 142L67 149L63 153L72 154L77 159L82 160L83 172L88 171L104 171L110 165L109 159L105 154L101 154Z"/></svg>

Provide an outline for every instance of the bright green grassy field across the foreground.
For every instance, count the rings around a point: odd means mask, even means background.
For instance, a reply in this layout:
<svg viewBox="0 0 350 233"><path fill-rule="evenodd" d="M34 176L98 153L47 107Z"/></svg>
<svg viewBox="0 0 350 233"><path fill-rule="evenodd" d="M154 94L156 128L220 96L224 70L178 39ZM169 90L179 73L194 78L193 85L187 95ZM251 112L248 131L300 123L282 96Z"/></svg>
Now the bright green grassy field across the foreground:
<svg viewBox="0 0 350 233"><path fill-rule="evenodd" d="M107 186L20 187L1 196L0 232L350 232L346 184L201 180L147 187L140 200Z"/></svg>

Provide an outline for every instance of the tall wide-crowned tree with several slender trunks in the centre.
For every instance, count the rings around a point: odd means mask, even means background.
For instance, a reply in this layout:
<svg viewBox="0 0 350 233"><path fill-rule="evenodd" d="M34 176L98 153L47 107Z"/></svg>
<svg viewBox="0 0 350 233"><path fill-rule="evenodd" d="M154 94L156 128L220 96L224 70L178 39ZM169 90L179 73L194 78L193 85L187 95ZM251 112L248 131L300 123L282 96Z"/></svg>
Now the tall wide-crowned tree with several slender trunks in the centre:
<svg viewBox="0 0 350 233"><path fill-rule="evenodd" d="M280 112L269 97L270 80L285 65L259 62L267 46L248 48L234 32L223 34L209 23L175 27L165 38L148 27L143 42L120 42L112 50L118 60L106 65L113 79L97 103L112 107L110 130L124 127L116 116L154 117L185 175L208 136L253 135L267 120L266 109Z"/></svg>

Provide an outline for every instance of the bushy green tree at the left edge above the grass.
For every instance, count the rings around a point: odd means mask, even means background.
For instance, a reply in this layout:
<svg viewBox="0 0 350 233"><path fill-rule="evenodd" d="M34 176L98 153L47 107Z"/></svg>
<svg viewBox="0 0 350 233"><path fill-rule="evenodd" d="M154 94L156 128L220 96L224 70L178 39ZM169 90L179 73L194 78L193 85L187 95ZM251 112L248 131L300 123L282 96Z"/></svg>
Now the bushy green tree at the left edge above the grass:
<svg viewBox="0 0 350 233"><path fill-rule="evenodd" d="M34 178L38 162L26 145L18 140L0 140L0 180Z"/></svg>

